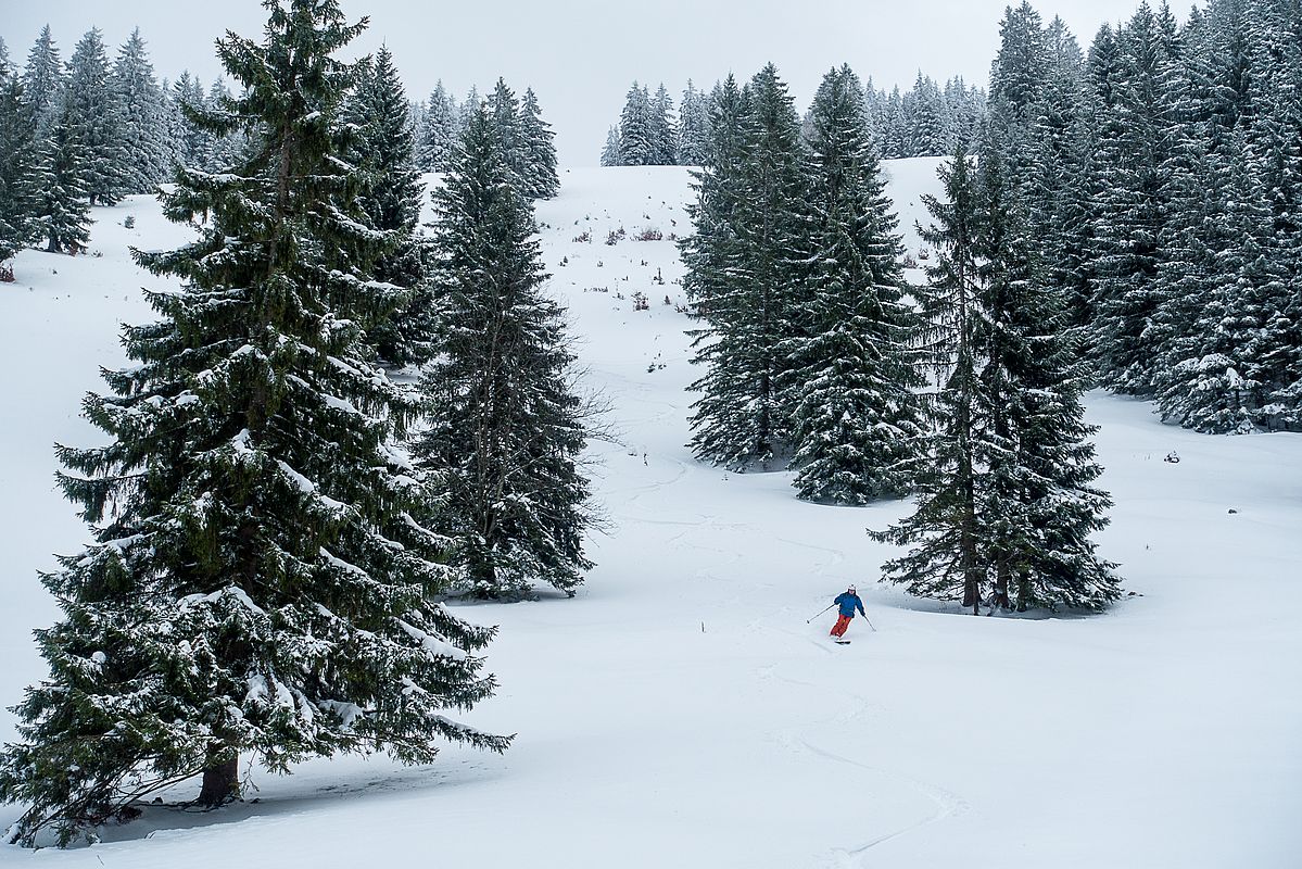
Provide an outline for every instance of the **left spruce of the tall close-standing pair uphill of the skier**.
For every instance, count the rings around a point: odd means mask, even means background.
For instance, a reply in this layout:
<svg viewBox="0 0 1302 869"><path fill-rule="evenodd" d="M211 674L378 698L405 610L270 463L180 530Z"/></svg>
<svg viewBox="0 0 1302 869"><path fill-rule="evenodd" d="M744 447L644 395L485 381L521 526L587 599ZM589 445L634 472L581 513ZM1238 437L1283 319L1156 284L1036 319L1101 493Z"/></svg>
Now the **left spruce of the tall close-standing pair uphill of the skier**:
<svg viewBox="0 0 1302 869"><path fill-rule="evenodd" d="M697 211L704 235L684 249L685 288L707 321L695 335L694 362L708 370L690 387L702 392L691 447L715 464L767 469L790 452L790 361L780 345L799 335L803 315L807 156L772 64L751 78L745 99L732 90L712 119L716 163Z"/></svg>

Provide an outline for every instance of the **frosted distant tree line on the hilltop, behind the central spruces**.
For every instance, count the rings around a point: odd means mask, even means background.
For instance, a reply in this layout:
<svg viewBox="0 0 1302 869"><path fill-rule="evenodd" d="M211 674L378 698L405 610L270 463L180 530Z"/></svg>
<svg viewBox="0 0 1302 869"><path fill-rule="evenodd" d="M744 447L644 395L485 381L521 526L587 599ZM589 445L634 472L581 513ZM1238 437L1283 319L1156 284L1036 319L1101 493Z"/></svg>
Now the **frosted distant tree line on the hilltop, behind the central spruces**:
<svg viewBox="0 0 1302 869"><path fill-rule="evenodd" d="M973 149L986 112L983 91L953 78L944 87L918 73L911 90L889 94L870 81L859 86L863 122L878 154L885 159L944 156L962 143ZM710 141L710 111L723 86L697 90L689 79L678 109L661 83L655 94L633 82L620 122L611 128L602 150L602 165L702 165ZM811 109L812 111L812 109ZM805 133L811 133L811 115Z"/></svg>

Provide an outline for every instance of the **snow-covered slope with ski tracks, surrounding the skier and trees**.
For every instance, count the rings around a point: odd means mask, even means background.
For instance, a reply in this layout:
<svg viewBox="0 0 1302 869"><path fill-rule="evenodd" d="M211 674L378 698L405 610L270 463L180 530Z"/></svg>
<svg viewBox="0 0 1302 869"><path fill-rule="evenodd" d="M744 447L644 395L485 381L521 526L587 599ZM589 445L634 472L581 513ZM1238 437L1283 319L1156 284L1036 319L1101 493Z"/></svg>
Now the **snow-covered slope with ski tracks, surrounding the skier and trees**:
<svg viewBox="0 0 1302 869"><path fill-rule="evenodd" d="M914 253L936 163L888 164ZM699 370L668 237L690 227L686 171L561 180L538 212L544 253L621 443L591 448L611 530L578 597L462 610L501 625L487 667L501 689L465 720L514 747L254 769L255 803L160 806L92 848L0 847L0 865L1302 865L1302 438L1195 435L1091 395L1117 502L1101 554L1131 595L1087 619L911 599L876 584L891 551L865 534L905 504L805 504L789 474L725 473L684 447ZM30 631L56 608L36 572L87 539L51 447L96 440L78 401L124 361L117 324L150 317L139 287L160 285L126 248L185 238L150 199L94 218L95 255L27 251L0 284L5 706L43 674ZM637 241L647 229L665 238ZM848 582L876 631L857 619L836 646L832 614L806 620ZM17 814L0 806L0 827Z"/></svg>

